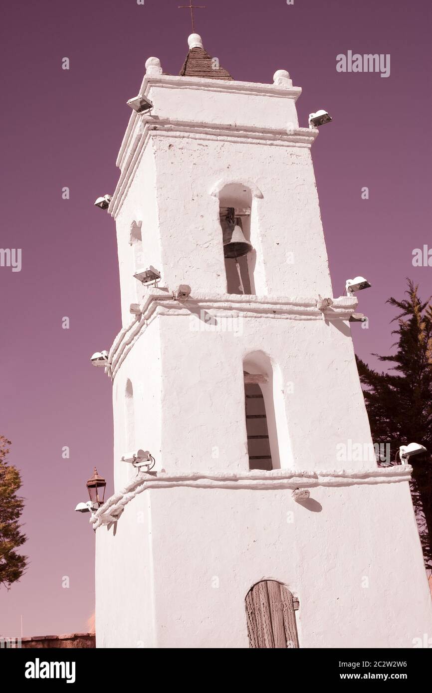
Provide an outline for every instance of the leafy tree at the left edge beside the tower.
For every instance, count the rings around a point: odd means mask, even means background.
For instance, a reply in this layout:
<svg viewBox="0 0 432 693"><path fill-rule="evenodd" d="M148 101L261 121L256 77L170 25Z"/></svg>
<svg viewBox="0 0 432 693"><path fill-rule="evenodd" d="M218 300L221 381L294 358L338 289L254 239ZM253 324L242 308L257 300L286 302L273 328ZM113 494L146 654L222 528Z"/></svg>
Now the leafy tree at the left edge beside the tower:
<svg viewBox="0 0 432 693"><path fill-rule="evenodd" d="M9 446L10 441L0 435L0 586L7 589L27 566L27 556L16 551L26 541L19 525L24 500L17 496L21 488L19 471L6 461Z"/></svg>

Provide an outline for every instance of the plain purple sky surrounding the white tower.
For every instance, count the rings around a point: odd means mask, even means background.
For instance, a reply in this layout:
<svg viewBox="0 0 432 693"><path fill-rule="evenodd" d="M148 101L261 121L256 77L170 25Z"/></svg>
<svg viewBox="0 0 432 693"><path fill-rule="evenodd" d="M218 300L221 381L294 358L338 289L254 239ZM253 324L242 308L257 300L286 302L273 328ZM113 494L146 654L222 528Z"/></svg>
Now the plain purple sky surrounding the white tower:
<svg viewBox="0 0 432 693"><path fill-rule="evenodd" d="M85 631L93 611L94 533L74 507L95 464L112 491L112 385L89 356L120 328L114 221L93 202L114 191L126 100L146 58L160 58L165 72L182 67L191 21L178 4L24 0L3 9L0 246L22 249L22 270L0 267L0 432L22 472L30 565L0 590L0 635L19 635L21 615L24 635ZM359 295L370 324L354 325L356 351L388 352L386 299L401 297L407 276L432 293L432 268L411 262L415 247L432 247L430 0L202 4L197 30L234 78L273 82L288 69L303 88L300 124L319 108L333 116L312 152L334 295L357 274L371 281ZM348 50L390 53L390 77L336 72Z"/></svg>

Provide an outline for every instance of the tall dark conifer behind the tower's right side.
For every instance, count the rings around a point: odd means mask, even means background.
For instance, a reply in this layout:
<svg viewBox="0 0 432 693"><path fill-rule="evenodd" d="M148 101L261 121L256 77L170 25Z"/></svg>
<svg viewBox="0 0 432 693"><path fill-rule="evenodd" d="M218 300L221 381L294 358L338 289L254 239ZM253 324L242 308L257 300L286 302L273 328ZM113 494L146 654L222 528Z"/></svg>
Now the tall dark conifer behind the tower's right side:
<svg viewBox="0 0 432 693"><path fill-rule="evenodd" d="M432 568L432 304L422 301L410 279L406 299L388 299L399 310L394 356L377 356L392 363L389 371L374 371L357 358L365 389L372 439L390 444L392 464L398 464L399 446L424 445L429 453L413 457L411 494L419 526L426 568Z"/></svg>

